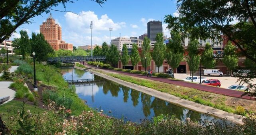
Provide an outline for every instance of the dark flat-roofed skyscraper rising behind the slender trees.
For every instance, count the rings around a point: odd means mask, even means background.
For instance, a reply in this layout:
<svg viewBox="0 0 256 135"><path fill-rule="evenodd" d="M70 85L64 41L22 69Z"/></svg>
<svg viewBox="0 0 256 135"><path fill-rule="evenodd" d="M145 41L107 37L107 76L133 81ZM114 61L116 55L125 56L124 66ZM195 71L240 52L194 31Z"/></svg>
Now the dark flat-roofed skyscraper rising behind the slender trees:
<svg viewBox="0 0 256 135"><path fill-rule="evenodd" d="M156 41L156 34L162 33L163 27L161 21L150 21L148 22L148 38L151 41Z"/></svg>

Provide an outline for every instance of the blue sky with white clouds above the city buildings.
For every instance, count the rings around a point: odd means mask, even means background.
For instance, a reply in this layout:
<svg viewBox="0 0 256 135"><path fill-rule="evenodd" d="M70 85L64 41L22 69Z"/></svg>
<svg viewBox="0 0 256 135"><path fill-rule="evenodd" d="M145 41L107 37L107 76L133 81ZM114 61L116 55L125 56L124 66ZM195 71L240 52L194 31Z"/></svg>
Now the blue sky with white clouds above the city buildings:
<svg viewBox="0 0 256 135"><path fill-rule="evenodd" d="M71 11L59 12L50 10L55 22L62 28L62 40L73 46L91 44L90 22L93 21L92 44L101 45L102 42L110 44L116 37L139 37L147 33L147 22L164 21L165 15L178 15L176 0L107 0L102 7L91 0L78 0L67 3L66 9L60 4L54 10ZM77 15L77 14L79 15ZM26 30L31 37L32 32L39 33L39 26L46 21L50 13L43 13L33 17L30 24L24 24L16 29L11 40L19 38L20 30ZM165 29L165 36L170 37L169 30Z"/></svg>

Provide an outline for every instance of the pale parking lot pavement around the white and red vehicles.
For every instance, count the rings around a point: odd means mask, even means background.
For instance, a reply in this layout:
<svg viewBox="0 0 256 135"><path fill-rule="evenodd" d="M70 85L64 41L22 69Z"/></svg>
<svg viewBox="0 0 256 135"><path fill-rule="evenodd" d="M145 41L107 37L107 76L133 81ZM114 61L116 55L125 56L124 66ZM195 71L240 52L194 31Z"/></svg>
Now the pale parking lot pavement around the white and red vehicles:
<svg viewBox="0 0 256 135"><path fill-rule="evenodd" d="M185 79L186 77L190 76L189 73L174 73L174 77L175 79ZM199 75L194 75L199 77ZM223 77L219 77L219 76L203 76L202 77L206 77L207 79L218 79L221 81L221 87L222 88L228 88L230 85L234 85L234 84L239 84L239 82L237 81L236 77L230 77L230 76L223 76ZM253 81L254 84L256 84L256 80L254 79ZM244 84L243 86L247 86L246 84Z"/></svg>

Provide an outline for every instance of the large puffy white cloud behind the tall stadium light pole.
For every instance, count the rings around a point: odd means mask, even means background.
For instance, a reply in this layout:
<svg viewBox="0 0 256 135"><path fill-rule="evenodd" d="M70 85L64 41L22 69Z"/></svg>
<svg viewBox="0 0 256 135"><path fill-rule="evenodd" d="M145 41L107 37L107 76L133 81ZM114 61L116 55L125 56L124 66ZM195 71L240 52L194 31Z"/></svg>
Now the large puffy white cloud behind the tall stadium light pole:
<svg viewBox="0 0 256 135"><path fill-rule="evenodd" d="M93 21L93 31L96 33L100 33L100 31L108 31L110 27L113 31L126 27L125 22L114 23L114 21L106 14L101 15L100 18L98 18L98 15L92 11L82 11L79 14L81 15L68 12L64 15L69 31L91 33L89 28L91 21Z"/></svg>

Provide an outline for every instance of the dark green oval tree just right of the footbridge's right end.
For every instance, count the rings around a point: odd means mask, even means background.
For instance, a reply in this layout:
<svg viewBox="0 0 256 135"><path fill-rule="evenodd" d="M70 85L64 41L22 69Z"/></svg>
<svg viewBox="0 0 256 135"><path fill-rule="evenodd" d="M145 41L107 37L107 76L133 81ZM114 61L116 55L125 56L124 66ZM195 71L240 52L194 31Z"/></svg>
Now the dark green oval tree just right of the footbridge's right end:
<svg viewBox="0 0 256 135"><path fill-rule="evenodd" d="M119 51L118 51L117 47L114 44L111 44L111 46L108 50L107 58L112 66L114 66L118 63L118 57L119 57Z"/></svg>

